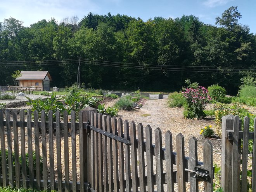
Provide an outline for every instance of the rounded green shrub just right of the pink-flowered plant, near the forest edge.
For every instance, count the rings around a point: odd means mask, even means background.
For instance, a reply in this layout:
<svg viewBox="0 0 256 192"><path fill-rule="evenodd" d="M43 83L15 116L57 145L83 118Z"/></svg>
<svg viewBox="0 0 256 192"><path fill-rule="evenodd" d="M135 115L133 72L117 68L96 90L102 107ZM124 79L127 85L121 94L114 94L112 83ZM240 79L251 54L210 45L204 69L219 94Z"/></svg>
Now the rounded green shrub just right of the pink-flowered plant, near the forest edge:
<svg viewBox="0 0 256 192"><path fill-rule="evenodd" d="M220 85L211 85L208 87L209 95L212 101L215 102L224 102L224 98L226 97L226 90Z"/></svg>

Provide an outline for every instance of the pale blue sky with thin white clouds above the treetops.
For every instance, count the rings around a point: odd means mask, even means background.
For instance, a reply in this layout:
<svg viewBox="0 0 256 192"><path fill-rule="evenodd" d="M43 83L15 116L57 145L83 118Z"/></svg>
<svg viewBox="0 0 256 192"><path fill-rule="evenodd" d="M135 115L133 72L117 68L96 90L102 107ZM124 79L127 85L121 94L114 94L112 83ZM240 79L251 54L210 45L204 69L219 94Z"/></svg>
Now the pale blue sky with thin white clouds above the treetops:
<svg viewBox="0 0 256 192"><path fill-rule="evenodd" d="M89 12L112 15L117 13L140 17L144 21L161 16L176 18L194 15L199 20L215 25L215 18L224 10L238 6L242 18L239 23L248 25L256 33L256 0L0 0L0 22L9 17L29 26L42 19L78 16L81 20Z"/></svg>

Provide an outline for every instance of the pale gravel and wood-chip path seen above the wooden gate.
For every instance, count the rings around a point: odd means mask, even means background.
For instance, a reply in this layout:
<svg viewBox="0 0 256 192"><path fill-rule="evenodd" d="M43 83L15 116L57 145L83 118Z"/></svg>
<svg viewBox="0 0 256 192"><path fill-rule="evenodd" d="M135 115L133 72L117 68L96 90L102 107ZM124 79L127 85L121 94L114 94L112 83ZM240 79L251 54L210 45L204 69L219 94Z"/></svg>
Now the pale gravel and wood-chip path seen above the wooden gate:
<svg viewBox="0 0 256 192"><path fill-rule="evenodd" d="M116 100L106 103L106 106L113 106ZM209 105L211 109L213 105ZM142 123L144 128L150 125L152 130L160 128L162 131L163 147L165 144L164 134L170 130L173 136L173 150L176 151L176 135L182 133L185 140L185 155L189 156L189 139L191 137L197 138L198 145L198 161L203 161L203 143L209 139L213 144L213 161L220 166L221 164L221 140L204 138L200 135L201 128L207 125L212 125L215 129L213 117L208 117L202 120L185 119L183 116L183 108L170 108L167 106L166 99L147 100L140 109L133 109L132 111L118 111L119 117L134 121L136 124ZM154 137L154 133L152 134ZM154 138L153 138L154 143Z"/></svg>

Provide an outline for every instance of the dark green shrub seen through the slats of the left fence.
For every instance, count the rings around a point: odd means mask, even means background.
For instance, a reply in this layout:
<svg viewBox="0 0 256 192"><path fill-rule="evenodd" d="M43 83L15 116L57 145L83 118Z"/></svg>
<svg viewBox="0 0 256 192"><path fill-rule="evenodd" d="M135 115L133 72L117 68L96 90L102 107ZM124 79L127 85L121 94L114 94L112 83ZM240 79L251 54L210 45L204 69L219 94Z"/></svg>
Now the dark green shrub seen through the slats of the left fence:
<svg viewBox="0 0 256 192"><path fill-rule="evenodd" d="M35 151L32 152L32 155L33 155L33 173L34 173L34 176L36 176L36 153ZM6 163L7 163L7 172L9 170L9 166L8 166L8 150L5 150L5 156L6 156ZM28 162L28 153L26 153L25 155L25 160L26 160L26 169L27 169L27 174L29 174L29 162ZM40 156L39 158L40 160L40 173L41 175L43 175L43 158ZM15 154L12 153L12 163L13 163L13 170L14 170L14 174L15 174ZM22 161L21 161L21 156L19 156L19 165L22 164ZM0 150L0 170L2 170L2 152ZM20 173L21 172L21 166L20 166ZM22 174L21 174L22 176Z"/></svg>

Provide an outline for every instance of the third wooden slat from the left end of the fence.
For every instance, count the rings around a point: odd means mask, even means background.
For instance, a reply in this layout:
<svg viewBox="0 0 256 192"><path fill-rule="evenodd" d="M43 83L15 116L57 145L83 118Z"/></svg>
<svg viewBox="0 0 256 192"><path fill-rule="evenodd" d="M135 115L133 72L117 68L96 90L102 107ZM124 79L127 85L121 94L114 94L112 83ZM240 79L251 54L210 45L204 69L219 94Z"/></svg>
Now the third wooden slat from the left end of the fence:
<svg viewBox="0 0 256 192"><path fill-rule="evenodd" d="M15 178L16 188L20 188L20 163L19 163L19 137L17 129L17 110L12 111L13 118L13 136L14 136L14 158L15 158Z"/></svg>

